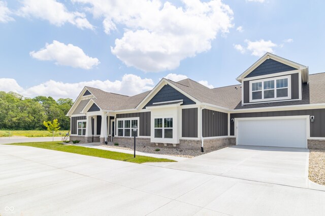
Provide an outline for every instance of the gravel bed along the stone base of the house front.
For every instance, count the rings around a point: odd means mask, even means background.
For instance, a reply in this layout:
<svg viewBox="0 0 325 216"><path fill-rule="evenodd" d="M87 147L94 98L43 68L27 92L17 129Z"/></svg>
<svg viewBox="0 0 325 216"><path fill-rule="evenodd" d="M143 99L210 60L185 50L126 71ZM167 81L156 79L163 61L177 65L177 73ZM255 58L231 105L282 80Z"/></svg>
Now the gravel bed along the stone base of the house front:
<svg viewBox="0 0 325 216"><path fill-rule="evenodd" d="M127 147L119 147L119 146L111 146L111 145L102 145L102 146L111 147L111 148L133 150L133 149L127 148ZM138 147L137 151L145 152L145 153L151 153L151 154L166 154L166 155L171 155L171 156L192 158L192 157L196 157L196 156L199 156L199 155L202 155L202 154L206 154L206 153L209 153L209 152L212 152L212 151L215 151L215 150L223 149L225 147L228 147L228 145L219 147L218 149L204 150L204 152L201 152L200 150L181 150L181 149L177 149L177 148L159 148L159 147L152 147L152 146L143 146L143 147ZM156 149L160 149L160 150L156 151Z"/></svg>

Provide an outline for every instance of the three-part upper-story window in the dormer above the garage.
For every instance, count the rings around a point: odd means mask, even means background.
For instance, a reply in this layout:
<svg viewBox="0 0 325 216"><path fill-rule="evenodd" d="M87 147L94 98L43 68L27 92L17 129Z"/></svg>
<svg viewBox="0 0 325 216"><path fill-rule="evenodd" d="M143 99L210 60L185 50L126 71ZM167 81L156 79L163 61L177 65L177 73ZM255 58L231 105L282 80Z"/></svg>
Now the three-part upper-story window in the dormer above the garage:
<svg viewBox="0 0 325 216"><path fill-rule="evenodd" d="M286 100L290 98L290 76L250 81L250 102Z"/></svg>

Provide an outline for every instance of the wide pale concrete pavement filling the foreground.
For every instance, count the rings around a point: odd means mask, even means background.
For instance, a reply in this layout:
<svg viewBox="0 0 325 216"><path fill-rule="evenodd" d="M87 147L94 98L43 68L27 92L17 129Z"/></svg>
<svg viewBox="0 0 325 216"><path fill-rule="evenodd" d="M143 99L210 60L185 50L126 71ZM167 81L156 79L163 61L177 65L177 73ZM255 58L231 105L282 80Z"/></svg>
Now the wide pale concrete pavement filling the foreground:
<svg viewBox="0 0 325 216"><path fill-rule="evenodd" d="M2 216L323 215L324 212L323 191L0 145Z"/></svg>

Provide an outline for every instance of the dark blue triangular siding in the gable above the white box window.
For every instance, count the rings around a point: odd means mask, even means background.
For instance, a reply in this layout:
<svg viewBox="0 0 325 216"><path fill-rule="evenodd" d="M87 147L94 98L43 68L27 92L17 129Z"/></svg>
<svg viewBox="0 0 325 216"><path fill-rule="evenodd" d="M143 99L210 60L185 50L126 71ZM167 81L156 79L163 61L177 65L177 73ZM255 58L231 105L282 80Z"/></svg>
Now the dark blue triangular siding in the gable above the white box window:
<svg viewBox="0 0 325 216"><path fill-rule="evenodd" d="M161 90L149 101L149 103L147 103L146 106L150 106L153 103L176 100L183 100L182 105L196 104L194 101L187 98L185 95L181 94L180 92L178 92L173 87L167 84L163 88L161 88Z"/></svg>

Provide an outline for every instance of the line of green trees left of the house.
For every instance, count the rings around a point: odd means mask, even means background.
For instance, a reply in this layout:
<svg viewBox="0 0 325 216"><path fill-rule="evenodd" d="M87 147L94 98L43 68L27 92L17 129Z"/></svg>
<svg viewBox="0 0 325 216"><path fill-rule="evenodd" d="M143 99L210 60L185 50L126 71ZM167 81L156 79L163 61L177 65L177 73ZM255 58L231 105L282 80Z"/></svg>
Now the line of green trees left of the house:
<svg viewBox="0 0 325 216"><path fill-rule="evenodd" d="M73 105L70 98L37 96L24 98L13 92L0 92L0 129L39 130L46 129L44 121L57 119L61 129L70 129L66 116Z"/></svg>

